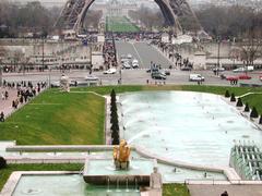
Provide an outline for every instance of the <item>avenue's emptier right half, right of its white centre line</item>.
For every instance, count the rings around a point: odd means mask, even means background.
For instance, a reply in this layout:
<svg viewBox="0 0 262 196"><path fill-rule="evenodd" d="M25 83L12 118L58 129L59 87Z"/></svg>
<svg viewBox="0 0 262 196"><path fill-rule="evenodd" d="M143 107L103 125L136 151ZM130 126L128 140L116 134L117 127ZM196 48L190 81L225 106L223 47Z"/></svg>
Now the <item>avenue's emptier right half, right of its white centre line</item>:
<svg viewBox="0 0 262 196"><path fill-rule="evenodd" d="M151 62L160 64L163 69L167 69L171 64L166 57L146 42L135 42L133 46L143 60L144 69L150 69Z"/></svg>

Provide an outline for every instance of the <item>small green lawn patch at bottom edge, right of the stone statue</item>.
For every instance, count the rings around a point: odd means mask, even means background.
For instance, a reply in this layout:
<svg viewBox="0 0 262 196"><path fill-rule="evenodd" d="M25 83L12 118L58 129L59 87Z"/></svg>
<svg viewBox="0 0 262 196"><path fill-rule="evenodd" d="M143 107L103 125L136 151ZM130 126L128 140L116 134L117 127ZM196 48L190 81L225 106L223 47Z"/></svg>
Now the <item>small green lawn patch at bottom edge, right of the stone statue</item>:
<svg viewBox="0 0 262 196"><path fill-rule="evenodd" d="M163 196L190 196L184 184L164 184Z"/></svg>

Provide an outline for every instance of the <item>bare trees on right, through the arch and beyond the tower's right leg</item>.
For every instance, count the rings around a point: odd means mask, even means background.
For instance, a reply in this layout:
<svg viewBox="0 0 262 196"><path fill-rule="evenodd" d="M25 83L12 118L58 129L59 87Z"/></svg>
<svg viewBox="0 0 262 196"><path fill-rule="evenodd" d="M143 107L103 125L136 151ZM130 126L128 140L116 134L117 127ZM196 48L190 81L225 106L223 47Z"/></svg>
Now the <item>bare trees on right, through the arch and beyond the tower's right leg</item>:
<svg viewBox="0 0 262 196"><path fill-rule="evenodd" d="M233 39L242 37L250 29L262 30L262 11L254 11L248 7L231 5L216 7L206 5L195 10L195 15L204 30L212 37ZM130 11L129 16L141 22L146 29L165 27L165 20L159 9L141 7L136 11ZM195 24L186 16L179 17L183 29L193 30Z"/></svg>

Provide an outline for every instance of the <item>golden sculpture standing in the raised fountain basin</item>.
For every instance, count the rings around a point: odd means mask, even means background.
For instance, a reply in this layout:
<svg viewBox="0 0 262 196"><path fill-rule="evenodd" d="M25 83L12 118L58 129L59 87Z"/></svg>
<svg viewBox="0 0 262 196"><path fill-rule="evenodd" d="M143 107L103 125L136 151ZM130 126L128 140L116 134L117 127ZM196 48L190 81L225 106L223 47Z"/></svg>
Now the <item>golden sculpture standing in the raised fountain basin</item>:
<svg viewBox="0 0 262 196"><path fill-rule="evenodd" d="M127 170L129 168L130 147L124 139L120 142L118 147L114 147L112 156L117 169Z"/></svg>

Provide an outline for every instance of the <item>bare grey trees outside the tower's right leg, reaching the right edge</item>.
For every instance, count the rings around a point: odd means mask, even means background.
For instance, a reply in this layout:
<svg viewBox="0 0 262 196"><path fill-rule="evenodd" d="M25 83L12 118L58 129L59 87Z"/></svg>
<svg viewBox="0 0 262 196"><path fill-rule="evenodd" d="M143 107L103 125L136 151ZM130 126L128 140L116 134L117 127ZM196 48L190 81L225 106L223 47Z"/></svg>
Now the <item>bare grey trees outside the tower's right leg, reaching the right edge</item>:
<svg viewBox="0 0 262 196"><path fill-rule="evenodd" d="M209 5L195 11L195 14L203 28L213 37L241 38L250 30L262 30L262 11L248 7Z"/></svg>

